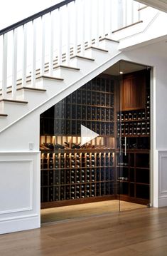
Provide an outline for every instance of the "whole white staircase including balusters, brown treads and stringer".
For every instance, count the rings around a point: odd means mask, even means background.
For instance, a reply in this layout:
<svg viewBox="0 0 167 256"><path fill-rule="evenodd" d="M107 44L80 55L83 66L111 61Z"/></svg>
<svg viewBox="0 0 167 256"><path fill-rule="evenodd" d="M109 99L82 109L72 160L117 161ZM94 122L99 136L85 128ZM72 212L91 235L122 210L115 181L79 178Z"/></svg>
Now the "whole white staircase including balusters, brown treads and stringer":
<svg viewBox="0 0 167 256"><path fill-rule="evenodd" d="M120 18L122 6L116 13L113 4L62 1L0 31L0 132L40 106L47 109L51 99L55 104L58 95L64 98L119 60L119 41L113 39L112 29L126 19ZM137 8L134 14L125 25L139 19ZM117 26L113 17L119 19Z"/></svg>

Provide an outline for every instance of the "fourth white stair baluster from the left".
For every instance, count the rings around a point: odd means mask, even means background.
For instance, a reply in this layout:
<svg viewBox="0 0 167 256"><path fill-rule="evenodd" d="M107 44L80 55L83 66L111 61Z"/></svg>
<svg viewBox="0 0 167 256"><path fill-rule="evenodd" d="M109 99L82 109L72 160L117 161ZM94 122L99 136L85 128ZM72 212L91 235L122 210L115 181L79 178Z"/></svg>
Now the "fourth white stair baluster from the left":
<svg viewBox="0 0 167 256"><path fill-rule="evenodd" d="M36 21L32 22L33 25L33 65L31 71L31 84L36 86Z"/></svg>

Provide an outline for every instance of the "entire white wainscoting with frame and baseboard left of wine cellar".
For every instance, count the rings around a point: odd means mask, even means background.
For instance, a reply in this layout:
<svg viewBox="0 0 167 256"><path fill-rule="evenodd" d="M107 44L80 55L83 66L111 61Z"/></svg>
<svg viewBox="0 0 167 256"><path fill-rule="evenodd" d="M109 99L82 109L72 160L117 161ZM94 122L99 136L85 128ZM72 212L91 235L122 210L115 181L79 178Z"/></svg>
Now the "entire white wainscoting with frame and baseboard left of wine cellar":
<svg viewBox="0 0 167 256"><path fill-rule="evenodd" d="M40 152L0 153L0 234L40 227Z"/></svg>

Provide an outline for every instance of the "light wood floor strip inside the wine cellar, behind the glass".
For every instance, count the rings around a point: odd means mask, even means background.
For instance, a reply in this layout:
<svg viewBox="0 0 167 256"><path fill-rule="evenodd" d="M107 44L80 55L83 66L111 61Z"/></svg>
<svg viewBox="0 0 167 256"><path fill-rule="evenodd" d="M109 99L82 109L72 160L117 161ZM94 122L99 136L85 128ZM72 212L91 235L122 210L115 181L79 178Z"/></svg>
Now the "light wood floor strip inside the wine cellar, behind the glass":
<svg viewBox="0 0 167 256"><path fill-rule="evenodd" d="M119 203L119 200L70 205L41 210L41 223L117 213L119 211L119 204L121 211L146 208L146 205L138 205L124 201L120 201Z"/></svg>

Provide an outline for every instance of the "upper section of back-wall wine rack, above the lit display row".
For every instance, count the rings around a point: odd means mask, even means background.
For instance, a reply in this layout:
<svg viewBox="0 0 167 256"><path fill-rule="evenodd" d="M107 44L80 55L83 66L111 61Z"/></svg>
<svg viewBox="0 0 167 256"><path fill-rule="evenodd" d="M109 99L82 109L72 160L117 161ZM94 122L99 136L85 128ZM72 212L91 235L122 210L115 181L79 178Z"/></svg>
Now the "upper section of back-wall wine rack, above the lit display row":
<svg viewBox="0 0 167 256"><path fill-rule="evenodd" d="M112 79L93 79L41 115L41 135L80 135L81 125L114 136Z"/></svg>

